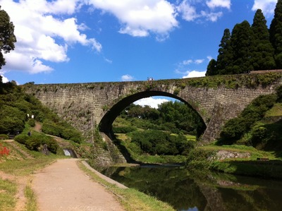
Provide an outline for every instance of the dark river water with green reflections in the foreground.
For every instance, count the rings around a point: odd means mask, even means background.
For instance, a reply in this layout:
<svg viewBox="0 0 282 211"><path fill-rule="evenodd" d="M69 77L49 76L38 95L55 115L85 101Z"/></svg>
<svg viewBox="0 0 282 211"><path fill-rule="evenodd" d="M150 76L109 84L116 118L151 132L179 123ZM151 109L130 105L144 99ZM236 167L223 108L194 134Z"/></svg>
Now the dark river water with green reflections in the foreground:
<svg viewBox="0 0 282 211"><path fill-rule="evenodd" d="M157 165L110 167L102 173L176 210L282 210L282 181Z"/></svg>

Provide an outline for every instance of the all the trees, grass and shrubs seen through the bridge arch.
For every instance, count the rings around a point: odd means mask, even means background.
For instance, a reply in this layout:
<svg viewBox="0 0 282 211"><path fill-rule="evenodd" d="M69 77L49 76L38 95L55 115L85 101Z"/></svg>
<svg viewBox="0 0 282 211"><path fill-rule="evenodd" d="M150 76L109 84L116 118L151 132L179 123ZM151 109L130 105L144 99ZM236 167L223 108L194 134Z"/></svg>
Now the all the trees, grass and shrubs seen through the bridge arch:
<svg viewBox="0 0 282 211"><path fill-rule="evenodd" d="M126 133L123 145L135 155L188 155L195 146L191 134L200 137L205 125L188 105L170 101L157 109L130 104L113 129Z"/></svg>

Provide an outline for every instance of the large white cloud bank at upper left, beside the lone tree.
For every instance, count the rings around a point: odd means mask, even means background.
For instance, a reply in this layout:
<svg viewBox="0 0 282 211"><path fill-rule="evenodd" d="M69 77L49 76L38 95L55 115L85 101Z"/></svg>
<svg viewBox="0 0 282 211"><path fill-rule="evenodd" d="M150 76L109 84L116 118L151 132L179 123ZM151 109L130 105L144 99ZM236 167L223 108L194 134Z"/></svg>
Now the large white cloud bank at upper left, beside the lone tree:
<svg viewBox="0 0 282 211"><path fill-rule="evenodd" d="M41 73L52 71L46 62L66 62L71 44L82 44L100 52L102 45L80 32L85 25L74 16L80 0L0 0L15 25L15 50L5 54L5 71ZM68 18L63 18L68 17Z"/></svg>

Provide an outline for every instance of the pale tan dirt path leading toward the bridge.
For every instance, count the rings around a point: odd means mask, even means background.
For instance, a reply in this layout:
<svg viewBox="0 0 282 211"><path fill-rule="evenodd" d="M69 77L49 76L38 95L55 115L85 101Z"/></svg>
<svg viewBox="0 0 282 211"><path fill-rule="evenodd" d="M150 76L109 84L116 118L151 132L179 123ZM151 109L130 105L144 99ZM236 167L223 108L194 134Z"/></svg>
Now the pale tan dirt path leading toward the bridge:
<svg viewBox="0 0 282 211"><path fill-rule="evenodd" d="M32 188L39 210L113 210L123 208L115 196L79 169L78 159L59 159L35 174Z"/></svg>

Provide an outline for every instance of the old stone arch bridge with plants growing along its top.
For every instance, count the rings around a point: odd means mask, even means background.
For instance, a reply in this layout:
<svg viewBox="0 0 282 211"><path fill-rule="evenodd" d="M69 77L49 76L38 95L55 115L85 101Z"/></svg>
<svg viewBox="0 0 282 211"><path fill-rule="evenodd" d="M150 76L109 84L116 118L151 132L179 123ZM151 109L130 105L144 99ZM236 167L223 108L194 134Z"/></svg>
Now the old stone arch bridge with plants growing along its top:
<svg viewBox="0 0 282 211"><path fill-rule="evenodd" d="M129 104L145 97L166 96L185 102L207 126L202 142L209 143L228 120L237 116L255 97L273 93L282 73L209 76L154 81L24 85L91 139L97 126L111 131L116 116Z"/></svg>

